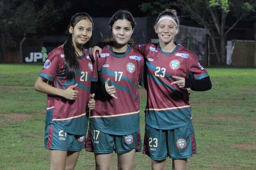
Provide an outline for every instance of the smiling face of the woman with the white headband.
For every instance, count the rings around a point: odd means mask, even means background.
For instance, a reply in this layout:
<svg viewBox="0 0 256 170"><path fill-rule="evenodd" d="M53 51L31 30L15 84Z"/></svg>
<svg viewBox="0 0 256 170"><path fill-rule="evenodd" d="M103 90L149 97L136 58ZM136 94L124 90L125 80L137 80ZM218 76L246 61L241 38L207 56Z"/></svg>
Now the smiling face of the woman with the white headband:
<svg viewBox="0 0 256 170"><path fill-rule="evenodd" d="M161 20L155 27L155 32L156 34L158 34L160 43L168 44L170 42L173 42L174 36L178 34L178 28L172 20L164 19Z"/></svg>

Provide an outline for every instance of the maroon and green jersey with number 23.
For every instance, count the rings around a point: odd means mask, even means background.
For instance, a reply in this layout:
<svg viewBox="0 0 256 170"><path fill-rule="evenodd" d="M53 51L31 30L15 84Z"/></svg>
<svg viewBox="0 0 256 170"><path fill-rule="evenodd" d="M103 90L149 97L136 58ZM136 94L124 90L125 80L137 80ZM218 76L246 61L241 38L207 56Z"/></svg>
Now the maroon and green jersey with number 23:
<svg viewBox="0 0 256 170"><path fill-rule="evenodd" d="M146 124L157 129L174 129L191 122L188 91L171 85L172 76L203 79L209 77L197 56L177 44L171 53L163 52L159 44L148 43L135 47L144 55L148 93Z"/></svg>

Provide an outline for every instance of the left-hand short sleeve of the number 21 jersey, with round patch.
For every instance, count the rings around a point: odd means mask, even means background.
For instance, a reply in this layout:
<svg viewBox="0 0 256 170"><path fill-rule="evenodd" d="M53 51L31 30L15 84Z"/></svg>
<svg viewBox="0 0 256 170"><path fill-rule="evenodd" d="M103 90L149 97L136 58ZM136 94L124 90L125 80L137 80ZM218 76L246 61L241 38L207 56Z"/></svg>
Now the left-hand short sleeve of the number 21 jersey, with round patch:
<svg viewBox="0 0 256 170"><path fill-rule="evenodd" d="M54 51L52 51L49 56L47 57L43 68L41 69L39 76L44 77L45 79L49 81L53 81L55 75L60 70L60 61L59 56L56 55Z"/></svg>

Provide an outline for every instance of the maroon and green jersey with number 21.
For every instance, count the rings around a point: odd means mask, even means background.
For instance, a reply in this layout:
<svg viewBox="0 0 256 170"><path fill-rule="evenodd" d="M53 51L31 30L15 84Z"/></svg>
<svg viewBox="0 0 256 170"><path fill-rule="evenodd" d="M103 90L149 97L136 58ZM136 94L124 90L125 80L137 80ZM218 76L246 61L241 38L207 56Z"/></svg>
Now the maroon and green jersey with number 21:
<svg viewBox="0 0 256 170"><path fill-rule="evenodd" d="M49 54L39 74L48 79L52 87L58 89L67 89L78 84L74 90L79 91L79 94L74 101L60 96L47 96L46 126L52 123L70 134L86 134L90 85L91 81L97 81L97 75L92 78L93 66L89 53L85 49L83 52L84 55L78 57L80 69L75 73L74 79L68 80L65 76L63 45Z"/></svg>

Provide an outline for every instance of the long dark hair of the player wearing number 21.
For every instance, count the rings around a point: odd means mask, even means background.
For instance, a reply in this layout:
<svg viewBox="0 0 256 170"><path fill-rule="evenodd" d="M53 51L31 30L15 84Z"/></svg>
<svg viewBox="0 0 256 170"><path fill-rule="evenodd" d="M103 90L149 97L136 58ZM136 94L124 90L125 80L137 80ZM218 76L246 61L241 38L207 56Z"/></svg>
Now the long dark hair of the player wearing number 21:
<svg viewBox="0 0 256 170"><path fill-rule="evenodd" d="M72 80L75 76L76 71L78 71L80 65L77 61L77 53L75 47L72 42L72 34L69 32L70 26L74 28L74 26L81 20L90 20L93 25L92 18L85 12L76 13L71 17L70 24L68 25L68 29L66 33L68 37L66 42L64 43L64 56L65 56L65 75L68 80Z"/></svg>

